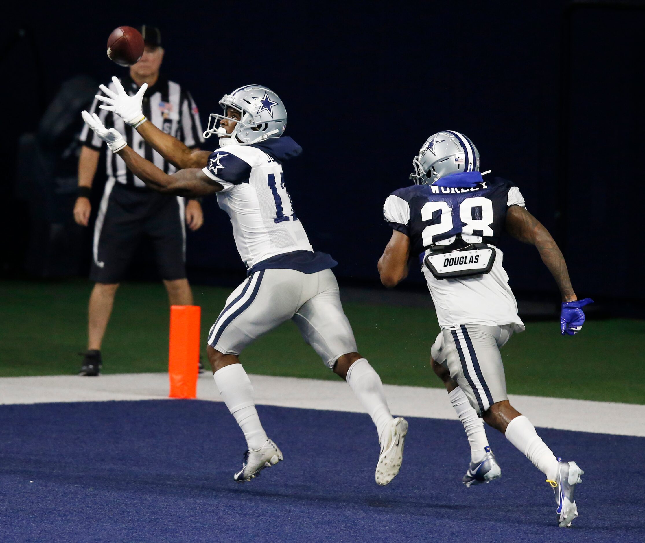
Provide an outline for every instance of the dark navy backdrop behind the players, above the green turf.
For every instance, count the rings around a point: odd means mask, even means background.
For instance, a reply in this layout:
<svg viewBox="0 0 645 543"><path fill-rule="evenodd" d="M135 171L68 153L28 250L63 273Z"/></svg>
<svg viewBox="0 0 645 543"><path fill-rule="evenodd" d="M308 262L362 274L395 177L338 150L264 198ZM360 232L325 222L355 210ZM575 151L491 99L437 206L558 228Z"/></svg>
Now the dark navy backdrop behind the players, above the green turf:
<svg viewBox="0 0 645 543"><path fill-rule="evenodd" d="M285 167L287 186L314 248L339 261L341 283L379 285L376 262L390 237L382 202L410 183L412 158L430 134L459 130L479 149L481 170L517 183L554 233L579 297L633 315L645 299L643 7L25 3L0 21L0 273L26 277L32 235L15 183L18 136L37 128L66 79L107 83L124 73L106 57L106 39L115 26L146 23L161 28L163 72L192 92L204 126L238 86L261 83L280 95L287 134L304 148ZM102 175L99 167L95 185ZM228 217L214 198L203 205L206 222L188 239L189 277L239 282ZM88 269L89 234L79 275ZM557 301L533 248L506 240L502 249L520 297ZM414 271L406 284L422 282Z"/></svg>

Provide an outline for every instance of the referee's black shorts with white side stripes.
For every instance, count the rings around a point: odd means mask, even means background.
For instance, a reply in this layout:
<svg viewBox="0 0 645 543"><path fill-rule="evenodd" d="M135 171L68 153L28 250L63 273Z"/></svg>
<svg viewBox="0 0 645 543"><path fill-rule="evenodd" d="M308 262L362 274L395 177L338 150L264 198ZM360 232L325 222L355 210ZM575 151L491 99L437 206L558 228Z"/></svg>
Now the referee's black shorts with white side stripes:
<svg viewBox="0 0 645 543"><path fill-rule="evenodd" d="M108 182L94 226L90 279L117 283L144 240L150 240L161 278L186 277L184 199Z"/></svg>

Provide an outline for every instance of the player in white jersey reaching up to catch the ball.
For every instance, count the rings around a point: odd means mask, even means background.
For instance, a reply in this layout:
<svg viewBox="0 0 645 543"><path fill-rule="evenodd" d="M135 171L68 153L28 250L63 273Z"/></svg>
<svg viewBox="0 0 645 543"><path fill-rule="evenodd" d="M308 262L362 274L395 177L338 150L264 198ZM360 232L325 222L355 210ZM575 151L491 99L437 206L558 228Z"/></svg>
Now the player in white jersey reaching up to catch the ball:
<svg viewBox="0 0 645 543"><path fill-rule="evenodd" d="M215 152L192 151L181 141L146 122L141 96L128 96L113 78L117 92L103 88L101 106L134 126L157 152L179 171L167 175L128 147L114 128L83 112L83 119L128 168L163 193L183 196L217 194L230 216L237 250L248 278L226 301L208 335L208 359L217 388L244 432L248 444L237 481L251 480L261 469L283 459L268 439L255 410L253 388L239 354L257 337L292 319L324 363L345 379L368 411L379 433L381 453L377 484L388 484L401 468L406 420L394 419L381 379L357 352L345 316L330 255L314 252L286 190L282 163L301 153L283 137L286 110L272 90L248 85L224 95L224 114L210 115L204 136L215 133ZM143 95L143 94L142 94Z"/></svg>

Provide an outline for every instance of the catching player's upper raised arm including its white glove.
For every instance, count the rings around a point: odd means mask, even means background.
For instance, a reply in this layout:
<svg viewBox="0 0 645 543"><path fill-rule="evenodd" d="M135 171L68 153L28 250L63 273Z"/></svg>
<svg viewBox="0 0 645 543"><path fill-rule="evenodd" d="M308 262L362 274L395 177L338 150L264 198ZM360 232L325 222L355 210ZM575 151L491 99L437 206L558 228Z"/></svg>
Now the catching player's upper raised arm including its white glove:
<svg viewBox="0 0 645 543"><path fill-rule="evenodd" d="M150 123L143 115L141 101L148 88L144 83L134 96L128 95L123 88L118 77L112 77L112 83L116 92L110 90L105 85L99 88L105 93L96 95L96 99L104 102L99 106L102 110L107 110L119 115L123 121L136 128L137 132L148 142L157 153L164 157L169 163L173 164L179 170L184 168L204 168L208 163L208 151L199 151L191 149L182 141L172 137L170 134L159 130L154 124Z"/></svg>

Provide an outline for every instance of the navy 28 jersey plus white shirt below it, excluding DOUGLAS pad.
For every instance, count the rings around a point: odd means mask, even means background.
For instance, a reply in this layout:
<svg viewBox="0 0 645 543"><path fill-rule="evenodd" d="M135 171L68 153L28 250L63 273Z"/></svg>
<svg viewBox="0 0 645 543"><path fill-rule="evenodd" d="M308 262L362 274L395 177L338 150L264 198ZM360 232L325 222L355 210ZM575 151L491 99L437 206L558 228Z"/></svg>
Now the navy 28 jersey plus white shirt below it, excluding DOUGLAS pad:
<svg viewBox="0 0 645 543"><path fill-rule="evenodd" d="M496 246L513 205L524 207L524 198L517 186L499 177L473 189L414 185L396 190L385 201L384 219L410 237L412 255L459 233L479 237L497 253L490 272L471 277L436 279L422 266L441 328L513 324L515 331L524 330L502 266L504 255Z"/></svg>

